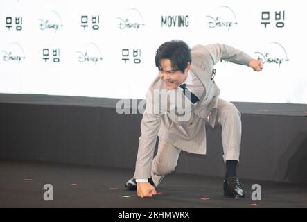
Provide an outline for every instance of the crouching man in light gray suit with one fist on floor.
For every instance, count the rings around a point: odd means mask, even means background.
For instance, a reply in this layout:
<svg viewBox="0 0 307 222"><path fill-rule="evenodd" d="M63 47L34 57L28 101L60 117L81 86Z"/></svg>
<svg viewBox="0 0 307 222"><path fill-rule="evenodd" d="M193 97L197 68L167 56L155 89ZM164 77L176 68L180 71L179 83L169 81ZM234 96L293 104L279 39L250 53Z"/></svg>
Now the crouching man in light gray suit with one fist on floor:
<svg viewBox="0 0 307 222"><path fill-rule="evenodd" d="M236 107L220 99L214 65L226 60L248 65L254 71L263 62L225 44L196 45L192 49L181 40L165 42L157 49L155 62L159 76L146 93L146 110L141 121L141 137L134 177L125 186L141 198L152 197L165 175L174 171L180 152L206 154L205 123L222 126L223 159L226 165L224 194L244 198L236 176L240 155L241 121ZM179 103L178 103L179 101ZM155 158L155 144L159 136Z"/></svg>

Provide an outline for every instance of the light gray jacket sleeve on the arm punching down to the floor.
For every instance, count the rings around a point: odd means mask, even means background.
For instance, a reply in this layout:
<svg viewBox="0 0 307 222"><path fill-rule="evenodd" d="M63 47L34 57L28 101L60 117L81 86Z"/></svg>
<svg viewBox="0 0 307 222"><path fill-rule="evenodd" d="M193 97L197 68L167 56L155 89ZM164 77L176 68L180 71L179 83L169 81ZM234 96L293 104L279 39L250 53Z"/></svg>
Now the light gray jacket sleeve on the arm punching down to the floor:
<svg viewBox="0 0 307 222"><path fill-rule="evenodd" d="M139 137L134 178L146 179L151 176L152 158L161 125L161 118L161 112L158 114L153 112L152 98L146 94L146 110L141 120L141 137Z"/></svg>

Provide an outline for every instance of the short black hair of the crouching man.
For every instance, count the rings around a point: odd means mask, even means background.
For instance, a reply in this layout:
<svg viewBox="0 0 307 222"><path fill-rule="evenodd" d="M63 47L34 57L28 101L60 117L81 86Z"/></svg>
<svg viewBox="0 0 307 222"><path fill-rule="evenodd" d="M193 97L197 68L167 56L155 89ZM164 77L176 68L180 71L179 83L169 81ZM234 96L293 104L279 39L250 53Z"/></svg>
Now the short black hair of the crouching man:
<svg viewBox="0 0 307 222"><path fill-rule="evenodd" d="M156 67L158 67L159 70L162 69L160 62L164 58L170 60L173 70L184 72L184 69L188 66L188 62L191 63L192 61L191 49L188 44L182 40L164 42L164 44L161 44L159 49L157 49L155 56Z"/></svg>

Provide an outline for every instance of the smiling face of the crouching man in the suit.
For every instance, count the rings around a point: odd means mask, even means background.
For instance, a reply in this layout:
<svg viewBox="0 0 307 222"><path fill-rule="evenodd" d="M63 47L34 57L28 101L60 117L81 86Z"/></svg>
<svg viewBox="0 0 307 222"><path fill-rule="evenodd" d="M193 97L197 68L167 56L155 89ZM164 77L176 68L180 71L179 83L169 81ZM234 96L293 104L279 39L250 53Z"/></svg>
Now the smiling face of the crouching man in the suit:
<svg viewBox="0 0 307 222"><path fill-rule="evenodd" d="M179 85L184 83L188 77L188 69L190 68L189 63L188 67L184 69L184 73L180 70L173 70L172 63L169 59L161 59L160 65L162 69L159 70L159 78L163 80L166 89L176 89Z"/></svg>

